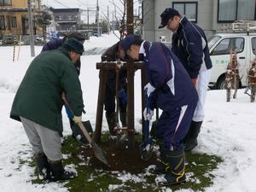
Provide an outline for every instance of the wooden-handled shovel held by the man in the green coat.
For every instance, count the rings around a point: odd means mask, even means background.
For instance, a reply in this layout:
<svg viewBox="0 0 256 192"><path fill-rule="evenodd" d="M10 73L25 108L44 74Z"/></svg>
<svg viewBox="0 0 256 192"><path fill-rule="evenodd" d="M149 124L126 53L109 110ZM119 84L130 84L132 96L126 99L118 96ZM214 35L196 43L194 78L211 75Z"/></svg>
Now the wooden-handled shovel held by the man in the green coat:
<svg viewBox="0 0 256 192"><path fill-rule="evenodd" d="M73 110L70 108L70 106L69 106L69 104L67 102L66 96L64 94L62 95L62 99L63 99L64 103L67 105L67 107L70 109L70 111L73 113ZM102 163L104 163L104 164L106 164L108 166L108 161L107 161L107 159L104 156L102 148L100 148L96 144L96 142L93 139L91 139L88 131L85 129L84 124L81 121L79 123L77 123L77 124L79 125L80 130L84 133L84 137L86 137L88 143L90 143L91 147L93 148L94 153L96 155L96 158L98 160L101 160Z"/></svg>

